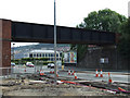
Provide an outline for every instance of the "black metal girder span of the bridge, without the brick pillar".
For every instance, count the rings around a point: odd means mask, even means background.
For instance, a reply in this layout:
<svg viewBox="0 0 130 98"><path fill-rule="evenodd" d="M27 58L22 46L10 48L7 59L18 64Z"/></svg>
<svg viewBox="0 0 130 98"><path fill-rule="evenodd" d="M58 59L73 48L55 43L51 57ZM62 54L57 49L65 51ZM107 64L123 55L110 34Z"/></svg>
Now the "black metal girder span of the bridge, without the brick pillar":
<svg viewBox="0 0 130 98"><path fill-rule="evenodd" d="M64 26L56 27L57 44L114 45L116 42L115 33ZM12 40L53 44L53 25L12 22Z"/></svg>

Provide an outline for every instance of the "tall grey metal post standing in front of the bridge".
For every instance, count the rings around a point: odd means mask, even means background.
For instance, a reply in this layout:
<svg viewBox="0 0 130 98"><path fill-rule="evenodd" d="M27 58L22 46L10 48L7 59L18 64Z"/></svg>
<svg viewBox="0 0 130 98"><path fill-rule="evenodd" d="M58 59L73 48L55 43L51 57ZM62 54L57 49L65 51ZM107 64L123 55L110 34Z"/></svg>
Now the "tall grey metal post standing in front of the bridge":
<svg viewBox="0 0 130 98"><path fill-rule="evenodd" d="M54 0L54 81L56 84L57 77L57 68L56 68L56 5L55 5L55 0Z"/></svg>

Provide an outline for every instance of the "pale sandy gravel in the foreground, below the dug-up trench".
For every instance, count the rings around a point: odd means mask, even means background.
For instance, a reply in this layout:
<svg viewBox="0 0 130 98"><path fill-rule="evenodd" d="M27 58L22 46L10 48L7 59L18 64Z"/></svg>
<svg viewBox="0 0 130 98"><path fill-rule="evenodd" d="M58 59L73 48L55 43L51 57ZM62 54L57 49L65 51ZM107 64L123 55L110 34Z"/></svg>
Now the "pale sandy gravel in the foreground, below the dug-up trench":
<svg viewBox="0 0 130 98"><path fill-rule="evenodd" d="M4 81L4 83L8 83ZM11 81L10 81L11 82ZM14 79L12 82L15 82ZM17 83L21 81L17 81ZM112 94L94 87L84 87L73 84L35 83L29 84L24 79L21 85L1 86L3 96L126 96L122 94Z"/></svg>

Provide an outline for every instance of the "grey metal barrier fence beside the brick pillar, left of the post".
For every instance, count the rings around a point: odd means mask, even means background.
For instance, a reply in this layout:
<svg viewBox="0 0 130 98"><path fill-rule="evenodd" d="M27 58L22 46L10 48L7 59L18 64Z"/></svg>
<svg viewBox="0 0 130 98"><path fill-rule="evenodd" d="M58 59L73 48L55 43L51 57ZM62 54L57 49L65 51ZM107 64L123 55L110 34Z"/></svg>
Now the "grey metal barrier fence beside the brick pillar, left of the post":
<svg viewBox="0 0 130 98"><path fill-rule="evenodd" d="M54 69L50 69L47 65L36 65L35 68L29 68L26 65L15 65L11 68L0 68L2 78L17 78L17 75L31 75L39 74L40 71L44 73L50 73L50 71L54 71Z"/></svg>

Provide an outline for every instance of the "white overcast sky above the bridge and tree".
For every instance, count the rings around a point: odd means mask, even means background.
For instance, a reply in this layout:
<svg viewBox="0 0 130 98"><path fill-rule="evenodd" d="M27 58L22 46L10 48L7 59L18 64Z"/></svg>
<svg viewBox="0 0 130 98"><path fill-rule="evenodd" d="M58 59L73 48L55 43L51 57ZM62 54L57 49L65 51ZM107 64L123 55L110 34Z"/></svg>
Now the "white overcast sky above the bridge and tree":
<svg viewBox="0 0 130 98"><path fill-rule="evenodd" d="M56 0L56 24L75 27L90 12L106 8L128 16L128 1L130 0ZM53 25L53 4L54 0L0 0L0 19Z"/></svg>

